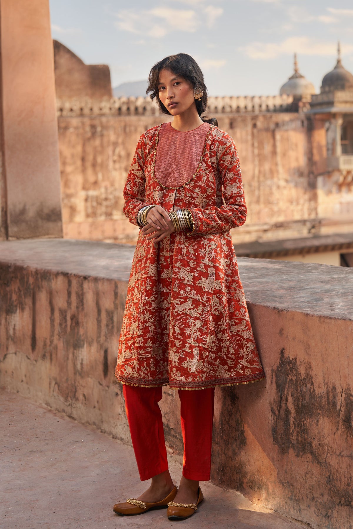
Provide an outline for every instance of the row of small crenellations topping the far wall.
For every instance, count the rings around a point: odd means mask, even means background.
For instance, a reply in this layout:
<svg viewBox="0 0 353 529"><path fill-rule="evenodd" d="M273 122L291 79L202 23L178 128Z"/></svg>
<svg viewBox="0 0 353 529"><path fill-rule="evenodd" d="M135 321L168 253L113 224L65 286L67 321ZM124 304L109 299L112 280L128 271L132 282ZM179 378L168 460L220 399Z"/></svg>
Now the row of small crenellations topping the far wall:
<svg viewBox="0 0 353 529"><path fill-rule="evenodd" d="M292 96L209 97L207 112L284 112L289 110ZM80 97L57 99L58 116L155 116L162 114L156 99L150 97L112 97L94 99Z"/></svg>

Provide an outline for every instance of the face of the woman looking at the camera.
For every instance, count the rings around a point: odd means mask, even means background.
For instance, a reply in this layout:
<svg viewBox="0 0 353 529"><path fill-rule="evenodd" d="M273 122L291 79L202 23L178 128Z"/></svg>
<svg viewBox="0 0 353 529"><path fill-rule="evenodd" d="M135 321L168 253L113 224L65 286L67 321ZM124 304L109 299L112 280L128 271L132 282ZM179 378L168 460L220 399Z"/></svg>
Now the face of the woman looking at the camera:
<svg viewBox="0 0 353 529"><path fill-rule="evenodd" d="M159 74L158 94L161 103L173 116L182 114L195 105L194 89L191 83L166 68L163 68Z"/></svg>

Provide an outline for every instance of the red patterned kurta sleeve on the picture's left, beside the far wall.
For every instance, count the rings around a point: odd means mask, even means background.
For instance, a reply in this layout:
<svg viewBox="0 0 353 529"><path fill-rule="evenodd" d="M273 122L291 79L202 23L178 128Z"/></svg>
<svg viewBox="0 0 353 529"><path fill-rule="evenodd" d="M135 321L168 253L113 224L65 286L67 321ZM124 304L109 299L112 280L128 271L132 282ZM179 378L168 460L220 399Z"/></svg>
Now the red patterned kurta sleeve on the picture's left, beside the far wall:
<svg viewBox="0 0 353 529"><path fill-rule="evenodd" d="M129 218L129 221L136 226L140 226L137 222L137 214L144 206L150 204L144 202L145 193L145 176L144 176L144 149L146 148L146 140L142 134L137 143L135 153L131 162L123 190L124 206L123 213Z"/></svg>

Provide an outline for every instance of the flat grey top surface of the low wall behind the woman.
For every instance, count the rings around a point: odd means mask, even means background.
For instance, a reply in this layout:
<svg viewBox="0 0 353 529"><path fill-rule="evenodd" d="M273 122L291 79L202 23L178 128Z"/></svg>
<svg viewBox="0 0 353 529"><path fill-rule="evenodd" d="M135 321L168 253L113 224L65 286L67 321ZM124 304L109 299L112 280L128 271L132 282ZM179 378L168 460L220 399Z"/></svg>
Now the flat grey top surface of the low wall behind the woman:
<svg viewBox="0 0 353 529"><path fill-rule="evenodd" d="M127 281L134 246L74 239L0 242L0 263ZM353 320L353 269L271 259L237 258L249 303Z"/></svg>

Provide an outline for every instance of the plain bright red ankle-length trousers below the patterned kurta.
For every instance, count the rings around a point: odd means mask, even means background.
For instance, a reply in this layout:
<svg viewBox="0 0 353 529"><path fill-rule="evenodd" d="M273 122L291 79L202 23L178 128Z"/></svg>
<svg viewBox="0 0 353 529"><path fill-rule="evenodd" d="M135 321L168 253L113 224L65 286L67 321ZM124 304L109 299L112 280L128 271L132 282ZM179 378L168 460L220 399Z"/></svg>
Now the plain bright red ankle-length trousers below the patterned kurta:
<svg viewBox="0 0 353 529"><path fill-rule="evenodd" d="M123 385L126 415L141 481L168 470L162 414L158 405L162 388ZM184 441L183 476L208 481L211 472L211 446L214 388L178 389L180 421Z"/></svg>

